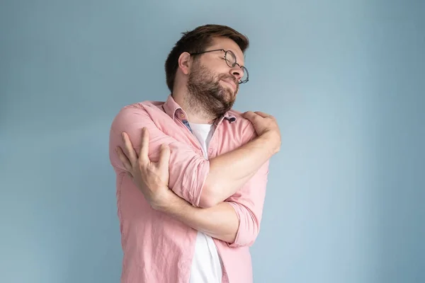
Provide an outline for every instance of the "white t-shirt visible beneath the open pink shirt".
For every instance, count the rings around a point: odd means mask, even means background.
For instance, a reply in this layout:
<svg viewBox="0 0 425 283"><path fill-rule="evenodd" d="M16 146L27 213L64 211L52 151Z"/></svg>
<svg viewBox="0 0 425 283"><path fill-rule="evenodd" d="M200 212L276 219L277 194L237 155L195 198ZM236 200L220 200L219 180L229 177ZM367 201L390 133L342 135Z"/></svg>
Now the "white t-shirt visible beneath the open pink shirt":
<svg viewBox="0 0 425 283"><path fill-rule="evenodd" d="M208 146L214 133L213 125L193 123L189 123L189 125L202 146L205 158L208 159ZM212 238L198 231L189 283L221 283L221 264L217 246L215 246Z"/></svg>

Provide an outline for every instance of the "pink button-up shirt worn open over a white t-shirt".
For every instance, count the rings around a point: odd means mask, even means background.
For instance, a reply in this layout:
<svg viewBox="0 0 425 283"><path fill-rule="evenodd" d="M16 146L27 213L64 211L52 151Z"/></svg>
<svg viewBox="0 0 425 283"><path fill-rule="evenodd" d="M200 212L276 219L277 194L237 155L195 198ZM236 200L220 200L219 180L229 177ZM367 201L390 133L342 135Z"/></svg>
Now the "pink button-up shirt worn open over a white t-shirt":
<svg viewBox="0 0 425 283"><path fill-rule="evenodd" d="M200 194L210 163L196 137L186 126L186 113L169 96L166 102L145 101L125 106L113 120L109 155L116 173L116 196L123 246L125 283L188 283L197 231L162 212L152 209L142 192L125 173L115 147L123 146L121 132L130 135L140 149L142 127L149 130L149 157L159 158L159 146L169 144L169 187L193 206ZM254 127L239 112L230 110L216 122L208 158L232 151L256 137ZM268 161L226 202L239 219L234 243L214 239L223 262L222 282L249 283L253 280L251 246L259 233L266 194Z"/></svg>

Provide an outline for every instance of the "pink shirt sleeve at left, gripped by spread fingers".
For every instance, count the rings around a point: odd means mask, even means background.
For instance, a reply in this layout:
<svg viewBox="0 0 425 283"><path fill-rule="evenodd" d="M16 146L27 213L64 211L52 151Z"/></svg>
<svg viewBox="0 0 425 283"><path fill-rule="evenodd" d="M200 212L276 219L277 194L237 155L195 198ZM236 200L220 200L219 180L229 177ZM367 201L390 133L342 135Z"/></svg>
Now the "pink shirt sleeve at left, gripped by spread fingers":
<svg viewBox="0 0 425 283"><path fill-rule="evenodd" d="M115 171L126 171L115 152L117 146L124 149L121 133L126 132L129 135L132 145L138 153L143 127L146 127L149 132L149 158L151 161L159 160L161 144L168 144L171 149L169 161L170 189L179 197L198 207L202 188L210 171L209 161L193 146L164 134L142 106L140 108L127 106L121 109L112 122L109 137L109 157Z"/></svg>

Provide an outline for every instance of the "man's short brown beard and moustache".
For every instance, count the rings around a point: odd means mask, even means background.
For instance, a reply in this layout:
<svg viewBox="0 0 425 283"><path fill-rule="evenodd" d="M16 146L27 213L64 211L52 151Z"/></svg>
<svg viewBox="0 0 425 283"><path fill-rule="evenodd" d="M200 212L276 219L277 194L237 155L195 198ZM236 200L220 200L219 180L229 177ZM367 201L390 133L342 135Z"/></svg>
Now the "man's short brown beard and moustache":
<svg viewBox="0 0 425 283"><path fill-rule="evenodd" d="M188 105L193 111L203 112L205 116L215 119L232 109L239 83L230 74L215 74L200 64L193 66L188 76ZM234 81L236 90L220 85L220 80Z"/></svg>

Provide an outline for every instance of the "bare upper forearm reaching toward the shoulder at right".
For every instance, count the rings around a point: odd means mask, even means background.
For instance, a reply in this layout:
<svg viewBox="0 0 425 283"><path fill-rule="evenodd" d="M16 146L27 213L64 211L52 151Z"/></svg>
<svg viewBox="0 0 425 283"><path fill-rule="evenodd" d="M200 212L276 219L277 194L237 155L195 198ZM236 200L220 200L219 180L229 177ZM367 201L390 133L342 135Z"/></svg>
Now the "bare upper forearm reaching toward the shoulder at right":
<svg viewBox="0 0 425 283"><path fill-rule="evenodd" d="M237 192L275 154L269 140L257 137L239 149L210 159L200 206L212 207Z"/></svg>

